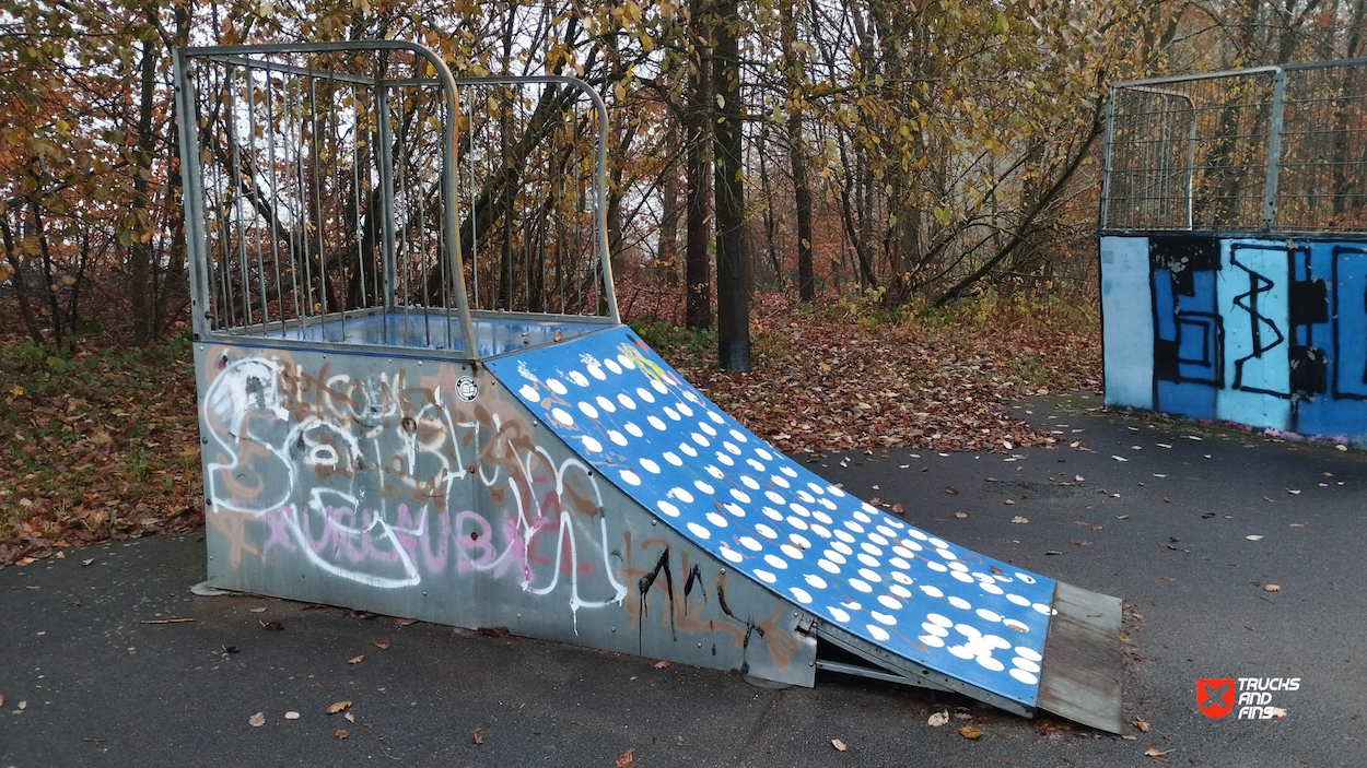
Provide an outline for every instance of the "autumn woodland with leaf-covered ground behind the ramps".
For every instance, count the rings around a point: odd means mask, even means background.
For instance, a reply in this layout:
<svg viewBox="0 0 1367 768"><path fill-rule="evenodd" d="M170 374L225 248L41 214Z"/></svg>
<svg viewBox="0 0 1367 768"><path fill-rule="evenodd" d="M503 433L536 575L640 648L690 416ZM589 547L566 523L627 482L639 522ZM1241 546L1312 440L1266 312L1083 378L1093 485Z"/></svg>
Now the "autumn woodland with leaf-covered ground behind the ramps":
<svg viewBox="0 0 1367 768"><path fill-rule="evenodd" d="M1367 0L0 0L0 567L202 519L174 46L580 77L619 305L685 374L789 451L1009 451L1054 437L1005 403L1098 387L1106 85L1353 57L1364 26Z"/></svg>

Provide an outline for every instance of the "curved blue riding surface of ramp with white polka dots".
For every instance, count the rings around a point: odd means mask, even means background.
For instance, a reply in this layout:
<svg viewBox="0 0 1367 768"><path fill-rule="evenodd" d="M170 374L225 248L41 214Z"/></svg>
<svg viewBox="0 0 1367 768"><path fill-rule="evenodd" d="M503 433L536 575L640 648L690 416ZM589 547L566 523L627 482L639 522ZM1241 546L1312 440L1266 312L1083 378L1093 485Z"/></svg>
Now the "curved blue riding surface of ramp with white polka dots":
<svg viewBox="0 0 1367 768"><path fill-rule="evenodd" d="M802 469L626 327L488 365L606 480L755 584L915 664L1035 705L1053 579Z"/></svg>

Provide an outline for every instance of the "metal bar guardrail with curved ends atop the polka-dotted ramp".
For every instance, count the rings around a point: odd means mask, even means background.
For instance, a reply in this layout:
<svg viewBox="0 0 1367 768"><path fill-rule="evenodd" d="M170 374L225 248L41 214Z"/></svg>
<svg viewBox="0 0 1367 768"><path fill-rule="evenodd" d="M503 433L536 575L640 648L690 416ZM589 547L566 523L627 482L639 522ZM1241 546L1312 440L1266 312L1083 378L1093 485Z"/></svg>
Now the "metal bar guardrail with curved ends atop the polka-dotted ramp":
<svg viewBox="0 0 1367 768"><path fill-rule="evenodd" d="M481 317L618 320L581 81L372 41L180 49L175 83L201 338L477 358Z"/></svg>

